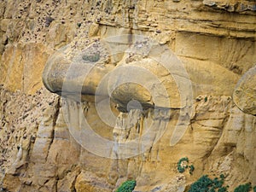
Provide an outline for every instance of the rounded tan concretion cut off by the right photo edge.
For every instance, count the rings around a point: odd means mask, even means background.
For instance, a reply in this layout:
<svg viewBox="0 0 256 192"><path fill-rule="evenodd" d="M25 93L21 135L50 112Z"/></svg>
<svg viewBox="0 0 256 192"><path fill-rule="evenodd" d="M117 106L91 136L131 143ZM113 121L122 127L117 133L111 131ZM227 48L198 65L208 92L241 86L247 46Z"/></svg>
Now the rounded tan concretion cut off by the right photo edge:
<svg viewBox="0 0 256 192"><path fill-rule="evenodd" d="M236 84L233 101L242 112L256 115L256 66L249 69Z"/></svg>

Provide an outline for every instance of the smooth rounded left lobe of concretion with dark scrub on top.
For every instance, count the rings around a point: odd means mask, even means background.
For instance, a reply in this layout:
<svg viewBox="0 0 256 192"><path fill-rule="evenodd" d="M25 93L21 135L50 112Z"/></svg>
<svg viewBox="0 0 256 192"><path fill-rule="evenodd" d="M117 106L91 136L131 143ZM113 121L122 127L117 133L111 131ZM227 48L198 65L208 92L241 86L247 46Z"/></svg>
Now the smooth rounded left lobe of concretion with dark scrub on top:
<svg viewBox="0 0 256 192"><path fill-rule="evenodd" d="M84 47L73 49L69 44L49 57L43 73L43 82L49 91L79 102L95 95L102 77L113 70L114 65L100 41Z"/></svg>

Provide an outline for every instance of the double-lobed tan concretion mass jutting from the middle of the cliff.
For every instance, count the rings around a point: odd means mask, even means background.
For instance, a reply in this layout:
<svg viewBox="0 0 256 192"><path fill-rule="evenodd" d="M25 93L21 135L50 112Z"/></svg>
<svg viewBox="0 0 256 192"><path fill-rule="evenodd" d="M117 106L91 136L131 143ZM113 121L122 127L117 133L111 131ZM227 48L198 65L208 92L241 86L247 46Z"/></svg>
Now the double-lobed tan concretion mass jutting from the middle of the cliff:
<svg viewBox="0 0 256 192"><path fill-rule="evenodd" d="M69 44L49 58L43 73L48 90L81 102L108 96L126 112L132 101L147 109L184 108L192 100L189 74L167 46L127 34L86 41L93 43Z"/></svg>

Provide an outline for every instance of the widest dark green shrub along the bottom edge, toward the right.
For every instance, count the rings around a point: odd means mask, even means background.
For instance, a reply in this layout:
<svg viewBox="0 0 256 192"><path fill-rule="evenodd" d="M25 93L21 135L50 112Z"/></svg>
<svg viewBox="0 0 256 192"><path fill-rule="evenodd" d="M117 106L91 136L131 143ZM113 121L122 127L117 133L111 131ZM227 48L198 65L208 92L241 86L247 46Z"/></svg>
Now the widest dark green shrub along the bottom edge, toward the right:
<svg viewBox="0 0 256 192"><path fill-rule="evenodd" d="M192 183L189 192L227 192L228 187L224 187L224 175L220 178L209 178L207 175L200 177L195 183Z"/></svg>

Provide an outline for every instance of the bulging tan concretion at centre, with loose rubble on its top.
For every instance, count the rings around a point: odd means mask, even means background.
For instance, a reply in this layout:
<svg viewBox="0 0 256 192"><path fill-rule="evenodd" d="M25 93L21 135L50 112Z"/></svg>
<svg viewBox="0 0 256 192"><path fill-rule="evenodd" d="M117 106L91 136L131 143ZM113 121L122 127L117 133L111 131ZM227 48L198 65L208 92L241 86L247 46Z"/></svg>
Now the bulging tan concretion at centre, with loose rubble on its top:
<svg viewBox="0 0 256 192"><path fill-rule="evenodd" d="M123 108L131 101L143 108L184 108L192 101L192 85L167 46L136 37L108 78L108 95Z"/></svg>

